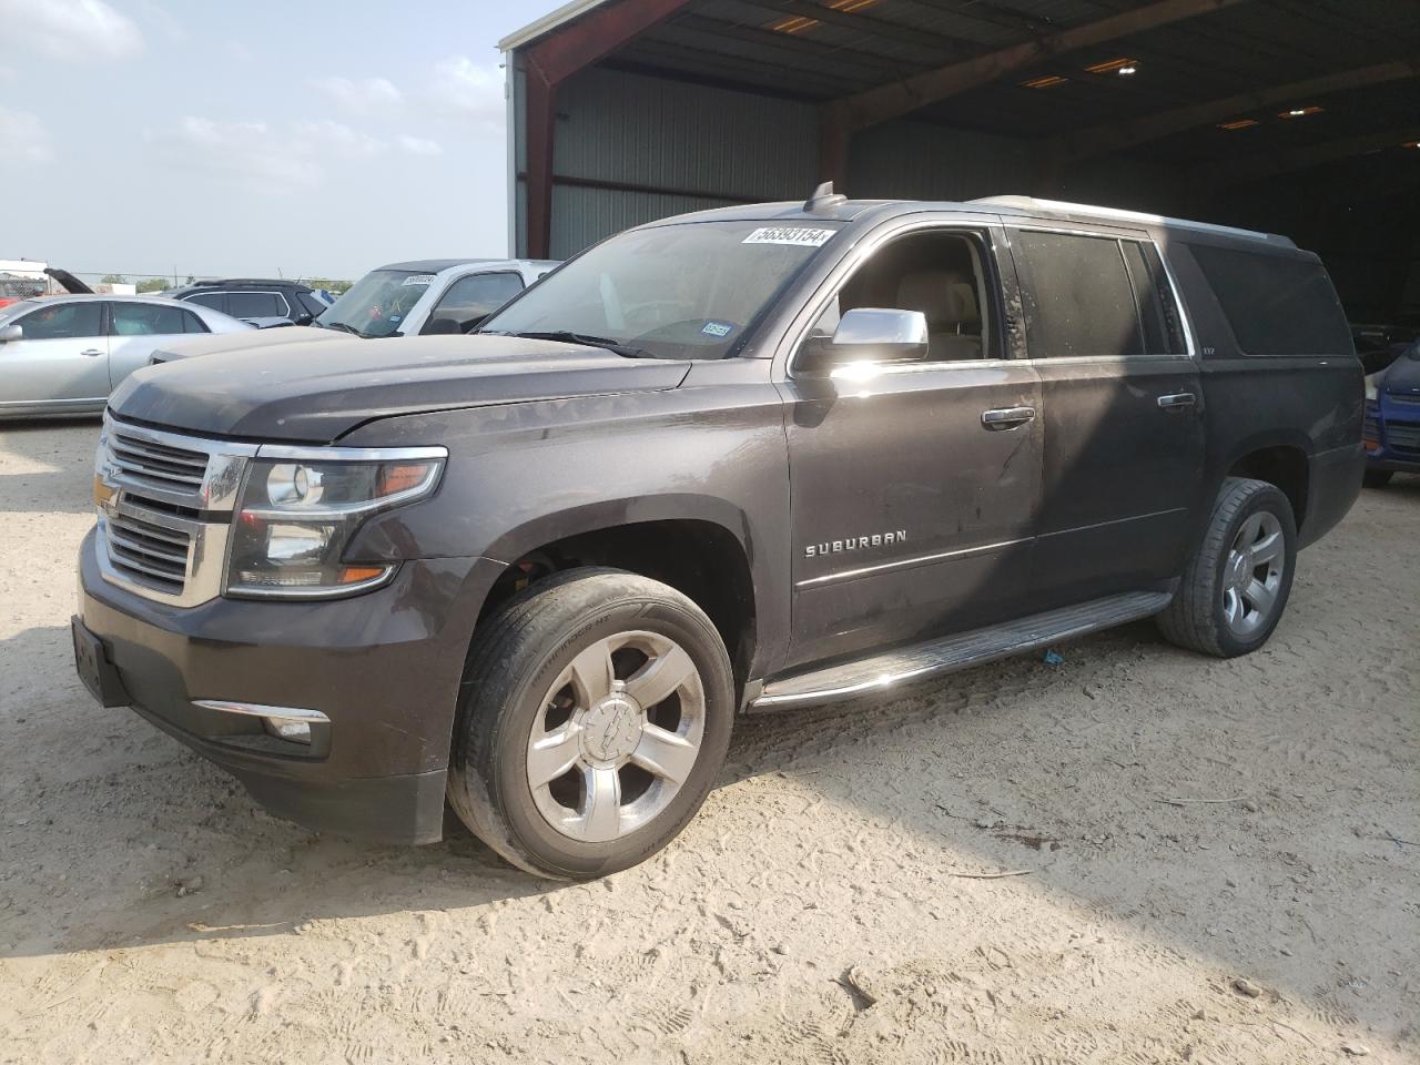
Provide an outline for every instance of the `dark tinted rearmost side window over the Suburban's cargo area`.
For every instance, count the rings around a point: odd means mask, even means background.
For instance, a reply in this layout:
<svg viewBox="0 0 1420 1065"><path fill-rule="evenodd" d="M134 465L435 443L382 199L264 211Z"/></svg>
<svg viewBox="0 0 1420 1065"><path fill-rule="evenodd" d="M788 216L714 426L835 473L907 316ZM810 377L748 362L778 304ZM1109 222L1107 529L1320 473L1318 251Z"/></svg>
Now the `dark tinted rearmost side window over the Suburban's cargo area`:
<svg viewBox="0 0 1420 1065"><path fill-rule="evenodd" d="M1321 263L1190 244L1247 355L1339 355L1350 327Z"/></svg>

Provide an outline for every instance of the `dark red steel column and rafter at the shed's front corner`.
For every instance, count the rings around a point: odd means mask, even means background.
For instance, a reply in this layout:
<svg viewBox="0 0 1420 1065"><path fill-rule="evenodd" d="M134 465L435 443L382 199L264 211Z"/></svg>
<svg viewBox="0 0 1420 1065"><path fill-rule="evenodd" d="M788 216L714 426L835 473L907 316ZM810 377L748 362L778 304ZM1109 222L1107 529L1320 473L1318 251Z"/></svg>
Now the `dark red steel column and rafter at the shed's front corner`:
<svg viewBox="0 0 1420 1065"><path fill-rule="evenodd" d="M528 257L547 258L552 243L552 151L557 88L569 77L694 0L615 0L523 48L525 72Z"/></svg>

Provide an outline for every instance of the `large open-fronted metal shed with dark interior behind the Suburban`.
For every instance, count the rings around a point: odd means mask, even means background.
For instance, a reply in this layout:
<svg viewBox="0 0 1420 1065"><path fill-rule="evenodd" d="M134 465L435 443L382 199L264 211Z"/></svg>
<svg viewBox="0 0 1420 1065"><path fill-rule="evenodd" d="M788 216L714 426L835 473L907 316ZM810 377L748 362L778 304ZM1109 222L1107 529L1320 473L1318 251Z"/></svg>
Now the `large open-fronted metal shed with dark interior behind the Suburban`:
<svg viewBox="0 0 1420 1065"><path fill-rule="evenodd" d="M832 179L1281 231L1420 317L1416 0L575 0L500 47L517 254Z"/></svg>

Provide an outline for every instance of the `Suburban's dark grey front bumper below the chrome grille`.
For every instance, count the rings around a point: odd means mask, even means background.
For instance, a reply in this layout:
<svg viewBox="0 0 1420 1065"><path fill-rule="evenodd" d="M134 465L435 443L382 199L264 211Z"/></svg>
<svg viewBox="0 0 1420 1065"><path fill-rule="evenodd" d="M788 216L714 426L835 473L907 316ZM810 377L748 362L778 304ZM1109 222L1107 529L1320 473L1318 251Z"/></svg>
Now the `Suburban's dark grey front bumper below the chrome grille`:
<svg viewBox="0 0 1420 1065"><path fill-rule="evenodd" d="M409 561L349 599L179 608L106 582L95 535L80 548L80 619L133 710L278 816L379 842L442 838L459 682L498 562ZM318 710L329 730L302 748L196 700Z"/></svg>

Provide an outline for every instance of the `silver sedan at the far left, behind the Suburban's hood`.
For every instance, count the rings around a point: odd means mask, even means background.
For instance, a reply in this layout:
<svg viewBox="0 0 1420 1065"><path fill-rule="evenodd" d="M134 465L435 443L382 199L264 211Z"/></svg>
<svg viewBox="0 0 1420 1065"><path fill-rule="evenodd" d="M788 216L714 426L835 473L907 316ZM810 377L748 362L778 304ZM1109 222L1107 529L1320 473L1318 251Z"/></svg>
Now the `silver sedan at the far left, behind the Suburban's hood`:
<svg viewBox="0 0 1420 1065"><path fill-rule="evenodd" d="M256 327L156 295L61 295L0 308L0 419L98 413L108 393L179 337Z"/></svg>

